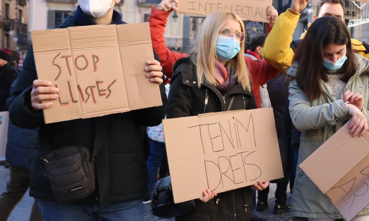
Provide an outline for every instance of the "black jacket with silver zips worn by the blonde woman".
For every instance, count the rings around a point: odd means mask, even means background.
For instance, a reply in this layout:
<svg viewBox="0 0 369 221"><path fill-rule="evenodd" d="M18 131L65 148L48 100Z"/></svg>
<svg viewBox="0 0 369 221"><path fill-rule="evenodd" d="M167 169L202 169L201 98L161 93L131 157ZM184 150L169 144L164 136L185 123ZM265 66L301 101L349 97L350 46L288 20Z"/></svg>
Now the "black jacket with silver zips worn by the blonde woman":
<svg viewBox="0 0 369 221"><path fill-rule="evenodd" d="M196 70L190 58L181 58L175 63L170 84L167 118L225 111L232 96L235 99L231 110L257 108L254 93L245 91L239 84L235 84L225 96L206 82L201 88L197 87ZM207 203L195 201L195 210L176 217L176 221L246 221L252 215L251 187L219 193Z"/></svg>

